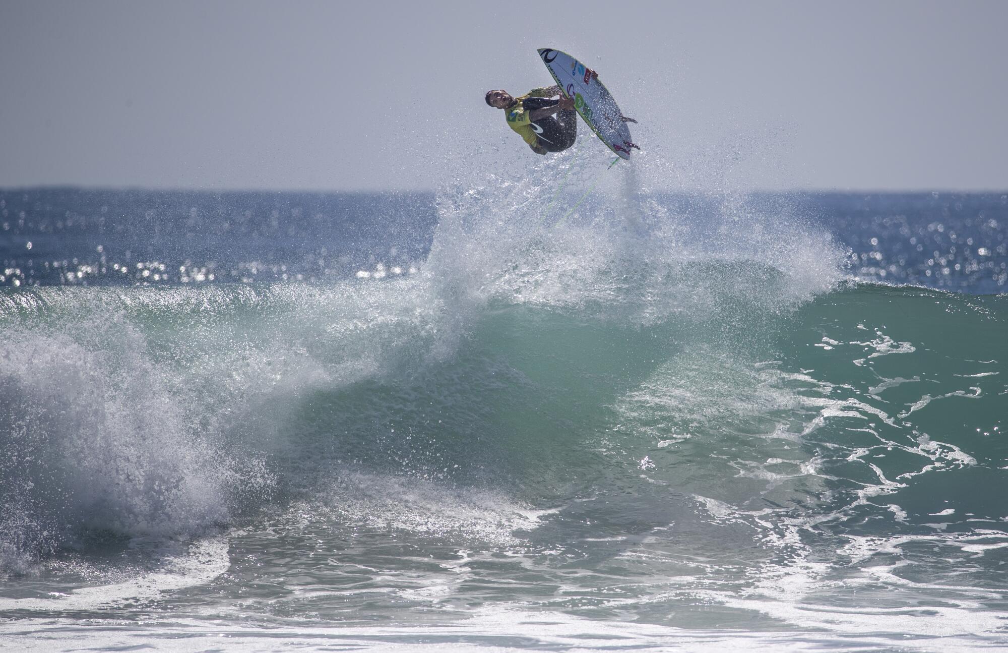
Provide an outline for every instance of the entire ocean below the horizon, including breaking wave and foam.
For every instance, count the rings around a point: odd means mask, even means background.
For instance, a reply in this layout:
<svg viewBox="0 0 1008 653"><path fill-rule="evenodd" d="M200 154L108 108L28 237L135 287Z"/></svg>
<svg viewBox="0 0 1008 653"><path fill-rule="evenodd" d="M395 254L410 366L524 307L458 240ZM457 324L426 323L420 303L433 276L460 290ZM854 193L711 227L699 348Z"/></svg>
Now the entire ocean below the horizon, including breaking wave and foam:
<svg viewBox="0 0 1008 653"><path fill-rule="evenodd" d="M0 191L0 647L1008 647L1008 194L551 160Z"/></svg>

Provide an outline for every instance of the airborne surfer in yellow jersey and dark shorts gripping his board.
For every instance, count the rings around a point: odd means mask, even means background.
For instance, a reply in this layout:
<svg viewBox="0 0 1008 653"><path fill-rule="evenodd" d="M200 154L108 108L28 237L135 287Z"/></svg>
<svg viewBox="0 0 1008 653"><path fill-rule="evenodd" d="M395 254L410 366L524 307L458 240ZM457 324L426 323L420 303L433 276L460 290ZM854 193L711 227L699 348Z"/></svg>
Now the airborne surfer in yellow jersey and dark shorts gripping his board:
<svg viewBox="0 0 1008 653"><path fill-rule="evenodd" d="M558 100L551 100L560 96ZM560 95L558 86L532 89L518 98L507 91L487 91L487 104L503 109L507 124L518 132L536 154L562 152L578 138L578 112L574 100ZM559 113L555 118L553 114Z"/></svg>

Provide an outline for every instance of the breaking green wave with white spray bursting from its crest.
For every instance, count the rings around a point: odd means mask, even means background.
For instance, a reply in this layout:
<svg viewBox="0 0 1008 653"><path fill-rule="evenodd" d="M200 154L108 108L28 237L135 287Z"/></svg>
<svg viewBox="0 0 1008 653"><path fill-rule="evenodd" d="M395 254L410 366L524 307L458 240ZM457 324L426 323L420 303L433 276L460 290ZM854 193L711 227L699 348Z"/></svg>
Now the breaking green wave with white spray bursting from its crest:
<svg viewBox="0 0 1008 653"><path fill-rule="evenodd" d="M598 537L700 509L809 558L1002 546L1006 296L858 284L799 219L689 225L629 173L572 211L595 171L560 160L444 193L408 278L4 289L5 567L334 487L406 515L404 479L520 504L466 537L606 496Z"/></svg>

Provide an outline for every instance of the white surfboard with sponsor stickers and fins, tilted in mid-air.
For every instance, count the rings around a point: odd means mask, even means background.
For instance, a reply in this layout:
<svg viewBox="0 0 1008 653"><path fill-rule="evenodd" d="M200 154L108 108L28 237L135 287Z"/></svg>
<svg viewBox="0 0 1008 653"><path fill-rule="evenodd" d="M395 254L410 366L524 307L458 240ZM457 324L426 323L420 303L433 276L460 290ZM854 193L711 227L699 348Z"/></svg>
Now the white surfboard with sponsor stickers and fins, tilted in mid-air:
<svg viewBox="0 0 1008 653"><path fill-rule="evenodd" d="M591 69L566 52L551 47L540 47L538 51L556 85L568 97L574 98L574 107L585 123L609 149L629 159L630 150L636 145L606 85L592 77Z"/></svg>

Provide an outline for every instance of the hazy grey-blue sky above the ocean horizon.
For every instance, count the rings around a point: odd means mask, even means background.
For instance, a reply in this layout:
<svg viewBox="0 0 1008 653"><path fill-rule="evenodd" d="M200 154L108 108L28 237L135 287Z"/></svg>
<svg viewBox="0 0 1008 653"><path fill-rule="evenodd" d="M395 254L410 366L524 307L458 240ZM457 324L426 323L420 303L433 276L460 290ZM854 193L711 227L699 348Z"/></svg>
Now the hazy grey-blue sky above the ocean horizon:
<svg viewBox="0 0 1008 653"><path fill-rule="evenodd" d="M483 94L551 83L548 46L640 121L656 184L1003 189L1006 24L1006 1L0 0L0 186L521 167L536 155Z"/></svg>

